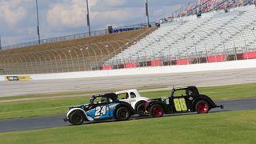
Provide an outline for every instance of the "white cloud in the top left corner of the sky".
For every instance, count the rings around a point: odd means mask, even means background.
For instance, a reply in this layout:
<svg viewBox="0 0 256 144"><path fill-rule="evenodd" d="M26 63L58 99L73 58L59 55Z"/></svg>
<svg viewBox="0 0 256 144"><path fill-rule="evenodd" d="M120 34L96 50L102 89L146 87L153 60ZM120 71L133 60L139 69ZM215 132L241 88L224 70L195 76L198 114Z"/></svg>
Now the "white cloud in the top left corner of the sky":
<svg viewBox="0 0 256 144"><path fill-rule="evenodd" d="M15 26L26 17L26 7L24 4L30 0L8 0L2 1L0 6L0 19L7 26Z"/></svg>

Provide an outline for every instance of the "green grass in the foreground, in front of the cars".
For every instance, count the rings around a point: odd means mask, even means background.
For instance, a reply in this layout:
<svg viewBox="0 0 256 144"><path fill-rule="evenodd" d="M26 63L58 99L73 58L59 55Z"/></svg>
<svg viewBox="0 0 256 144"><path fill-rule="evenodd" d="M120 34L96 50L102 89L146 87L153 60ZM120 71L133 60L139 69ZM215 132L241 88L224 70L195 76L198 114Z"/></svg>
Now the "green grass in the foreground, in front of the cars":
<svg viewBox="0 0 256 144"><path fill-rule="evenodd" d="M256 143L256 110L102 122L0 134L1 143Z"/></svg>

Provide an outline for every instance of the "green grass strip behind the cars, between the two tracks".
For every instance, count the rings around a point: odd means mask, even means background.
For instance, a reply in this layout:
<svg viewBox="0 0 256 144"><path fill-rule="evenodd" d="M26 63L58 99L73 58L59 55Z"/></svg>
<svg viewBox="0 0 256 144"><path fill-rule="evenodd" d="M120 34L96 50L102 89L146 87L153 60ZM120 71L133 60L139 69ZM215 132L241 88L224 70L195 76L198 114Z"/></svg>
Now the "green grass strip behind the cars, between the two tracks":
<svg viewBox="0 0 256 144"><path fill-rule="evenodd" d="M210 98L213 98L215 101L237 98L256 98L254 92L254 90L256 90L256 84L202 87L199 88L199 90L202 94L209 95ZM142 93L142 96L148 98L167 97L169 95L170 90ZM69 106L86 102L89 102L89 97L4 102L0 103L0 119L64 114Z"/></svg>

